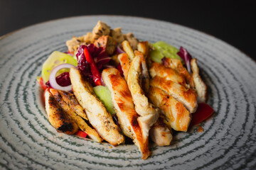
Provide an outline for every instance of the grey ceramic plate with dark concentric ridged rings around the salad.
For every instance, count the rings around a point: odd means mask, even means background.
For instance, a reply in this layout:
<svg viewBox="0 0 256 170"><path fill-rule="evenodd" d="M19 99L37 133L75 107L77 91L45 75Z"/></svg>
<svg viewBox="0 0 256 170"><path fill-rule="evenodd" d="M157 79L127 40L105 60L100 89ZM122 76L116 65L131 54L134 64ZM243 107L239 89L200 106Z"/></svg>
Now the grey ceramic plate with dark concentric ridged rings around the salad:
<svg viewBox="0 0 256 170"><path fill-rule="evenodd" d="M204 132L179 132L169 147L151 145L141 159L134 145L111 147L63 135L50 125L36 77L65 40L98 20L139 40L164 40L198 58L215 114ZM256 64L227 43L164 21L82 16L37 24L0 40L0 169L255 169Z"/></svg>

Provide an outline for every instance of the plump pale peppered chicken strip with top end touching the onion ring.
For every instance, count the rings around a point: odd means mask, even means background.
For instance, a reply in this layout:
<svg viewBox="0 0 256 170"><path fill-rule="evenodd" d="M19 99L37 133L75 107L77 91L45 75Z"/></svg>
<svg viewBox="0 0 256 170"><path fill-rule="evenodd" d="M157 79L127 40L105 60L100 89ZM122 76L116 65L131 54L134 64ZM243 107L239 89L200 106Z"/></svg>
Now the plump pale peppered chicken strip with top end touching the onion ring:
<svg viewBox="0 0 256 170"><path fill-rule="evenodd" d="M114 124L112 116L107 113L103 103L95 96L92 85L82 79L78 69L70 69L70 80L75 97L85 109L90 124L97 130L100 136L110 142L111 145L119 145L124 142L124 136L120 129Z"/></svg>

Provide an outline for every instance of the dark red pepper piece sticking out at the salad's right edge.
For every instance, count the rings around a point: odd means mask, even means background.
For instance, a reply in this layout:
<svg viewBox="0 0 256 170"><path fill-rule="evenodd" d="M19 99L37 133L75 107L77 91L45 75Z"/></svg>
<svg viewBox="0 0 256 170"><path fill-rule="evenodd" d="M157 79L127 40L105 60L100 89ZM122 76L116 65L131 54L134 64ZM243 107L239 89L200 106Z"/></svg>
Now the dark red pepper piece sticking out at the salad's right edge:
<svg viewBox="0 0 256 170"><path fill-rule="evenodd" d="M198 108L195 113L192 113L192 120L190 127L197 125L203 120L206 120L213 114L213 108L211 108L207 103L198 103Z"/></svg>

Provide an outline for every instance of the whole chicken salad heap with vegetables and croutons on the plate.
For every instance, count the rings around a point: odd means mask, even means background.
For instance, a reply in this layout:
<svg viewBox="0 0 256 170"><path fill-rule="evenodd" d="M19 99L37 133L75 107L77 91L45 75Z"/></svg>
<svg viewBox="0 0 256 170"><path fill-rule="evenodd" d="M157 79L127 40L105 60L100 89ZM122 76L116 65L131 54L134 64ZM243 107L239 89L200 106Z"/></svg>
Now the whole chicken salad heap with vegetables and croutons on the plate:
<svg viewBox="0 0 256 170"><path fill-rule="evenodd" d="M183 47L139 41L101 21L66 45L37 80L58 132L114 146L130 138L146 159L149 140L170 145L172 130L186 132L213 113L196 58Z"/></svg>

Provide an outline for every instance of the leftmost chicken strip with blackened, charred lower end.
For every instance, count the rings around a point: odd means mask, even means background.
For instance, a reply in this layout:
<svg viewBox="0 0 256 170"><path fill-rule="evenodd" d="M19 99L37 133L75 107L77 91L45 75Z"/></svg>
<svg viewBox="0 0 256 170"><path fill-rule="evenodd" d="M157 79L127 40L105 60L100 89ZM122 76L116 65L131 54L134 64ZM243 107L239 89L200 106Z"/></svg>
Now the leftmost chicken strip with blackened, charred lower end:
<svg viewBox="0 0 256 170"><path fill-rule="evenodd" d="M53 128L58 132L63 132L68 135L73 135L78 131L78 125L73 119L66 115L65 111L58 105L52 94L50 94L49 89L45 92L46 100L46 113L48 119Z"/></svg>

